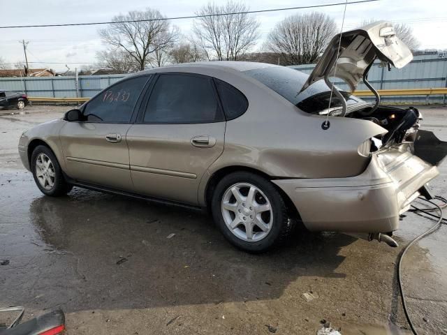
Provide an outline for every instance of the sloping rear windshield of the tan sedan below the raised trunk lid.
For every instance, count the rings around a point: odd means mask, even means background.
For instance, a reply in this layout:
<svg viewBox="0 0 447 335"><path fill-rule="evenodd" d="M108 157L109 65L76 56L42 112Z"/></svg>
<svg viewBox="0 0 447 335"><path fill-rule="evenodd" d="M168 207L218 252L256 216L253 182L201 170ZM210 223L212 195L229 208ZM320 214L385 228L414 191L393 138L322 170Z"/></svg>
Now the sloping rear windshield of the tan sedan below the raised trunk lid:
<svg viewBox="0 0 447 335"><path fill-rule="evenodd" d="M301 71L294 70L293 68L274 66L247 70L244 71L244 73L258 80L258 82L265 84L265 86L277 92L277 94L284 96L284 98L304 112L323 114L324 111L328 110L330 88L323 82L323 80L315 82L305 91L298 94L309 77L309 75L302 73ZM349 92L342 91L342 94L346 99L348 106L365 104L365 101L353 96ZM342 102L339 101L337 96L332 94L330 109L341 106Z"/></svg>

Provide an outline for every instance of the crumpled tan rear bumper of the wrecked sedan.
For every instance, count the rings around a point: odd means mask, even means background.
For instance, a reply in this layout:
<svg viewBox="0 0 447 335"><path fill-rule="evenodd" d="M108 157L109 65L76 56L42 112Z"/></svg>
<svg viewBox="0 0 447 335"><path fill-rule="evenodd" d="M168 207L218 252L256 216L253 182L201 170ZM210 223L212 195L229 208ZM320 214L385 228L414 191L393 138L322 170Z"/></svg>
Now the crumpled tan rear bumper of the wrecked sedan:
<svg viewBox="0 0 447 335"><path fill-rule="evenodd" d="M309 230L392 232L399 215L437 177L409 144L373 154L362 174L348 178L273 180L291 198Z"/></svg>

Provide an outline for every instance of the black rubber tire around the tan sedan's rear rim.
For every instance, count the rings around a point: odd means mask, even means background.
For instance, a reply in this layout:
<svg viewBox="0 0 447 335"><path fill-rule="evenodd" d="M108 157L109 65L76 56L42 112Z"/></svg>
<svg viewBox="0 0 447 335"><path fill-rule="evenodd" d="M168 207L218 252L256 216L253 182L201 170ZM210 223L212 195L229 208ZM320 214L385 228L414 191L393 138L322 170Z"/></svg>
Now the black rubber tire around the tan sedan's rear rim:
<svg viewBox="0 0 447 335"><path fill-rule="evenodd" d="M270 201L273 213L272 225L268 234L259 241L245 241L244 239L240 239L233 234L230 228L228 228L225 219L223 218L223 197L228 188L240 183L248 183L256 186L256 188L264 193L265 197L268 198L268 201ZM286 203L284 202L281 193L279 193L276 186L274 186L268 179L251 172L233 172L223 177L214 189L211 210L214 222L219 226L223 236L230 241L231 244L237 246L237 248L249 253L263 253L271 248L281 246L281 244L287 240L292 230L292 220L288 216ZM242 229L244 229L243 225Z"/></svg>

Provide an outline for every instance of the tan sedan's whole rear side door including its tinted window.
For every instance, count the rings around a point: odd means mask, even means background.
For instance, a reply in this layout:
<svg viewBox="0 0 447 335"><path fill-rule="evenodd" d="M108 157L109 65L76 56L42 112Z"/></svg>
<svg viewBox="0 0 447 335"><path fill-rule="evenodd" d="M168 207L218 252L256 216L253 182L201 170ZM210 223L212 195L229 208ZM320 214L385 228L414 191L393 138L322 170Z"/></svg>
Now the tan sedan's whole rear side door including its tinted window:
<svg viewBox="0 0 447 335"><path fill-rule="evenodd" d="M226 121L211 77L159 75L127 133L137 193L198 203L198 184L222 154Z"/></svg>

